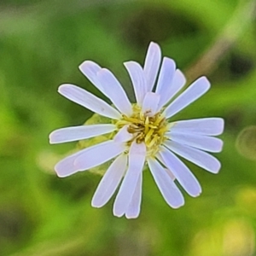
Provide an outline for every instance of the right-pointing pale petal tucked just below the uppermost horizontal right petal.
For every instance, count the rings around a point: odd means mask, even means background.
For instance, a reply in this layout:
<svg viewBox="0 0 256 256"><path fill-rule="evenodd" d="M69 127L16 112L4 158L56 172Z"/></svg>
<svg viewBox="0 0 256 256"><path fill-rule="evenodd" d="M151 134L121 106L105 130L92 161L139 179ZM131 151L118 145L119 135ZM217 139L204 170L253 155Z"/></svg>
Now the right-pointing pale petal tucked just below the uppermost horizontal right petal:
<svg viewBox="0 0 256 256"><path fill-rule="evenodd" d="M194 133L181 133L172 130L166 132L166 136L174 142L209 152L220 152L223 147L222 140L217 137L208 137Z"/></svg>

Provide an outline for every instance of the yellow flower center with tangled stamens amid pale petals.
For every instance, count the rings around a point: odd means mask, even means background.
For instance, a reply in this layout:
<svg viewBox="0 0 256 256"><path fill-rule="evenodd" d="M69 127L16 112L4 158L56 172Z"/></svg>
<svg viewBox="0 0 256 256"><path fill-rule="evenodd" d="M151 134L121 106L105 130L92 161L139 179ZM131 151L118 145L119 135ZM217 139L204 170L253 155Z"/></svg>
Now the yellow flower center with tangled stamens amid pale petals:
<svg viewBox="0 0 256 256"><path fill-rule="evenodd" d="M117 125L120 128L128 125L127 131L133 135L128 145L131 145L134 140L137 143L145 143L147 155L152 156L158 152L160 144L166 139L168 123L161 113L156 113L154 116L148 114L142 113L141 108L134 105L131 117L123 115L123 119Z"/></svg>

